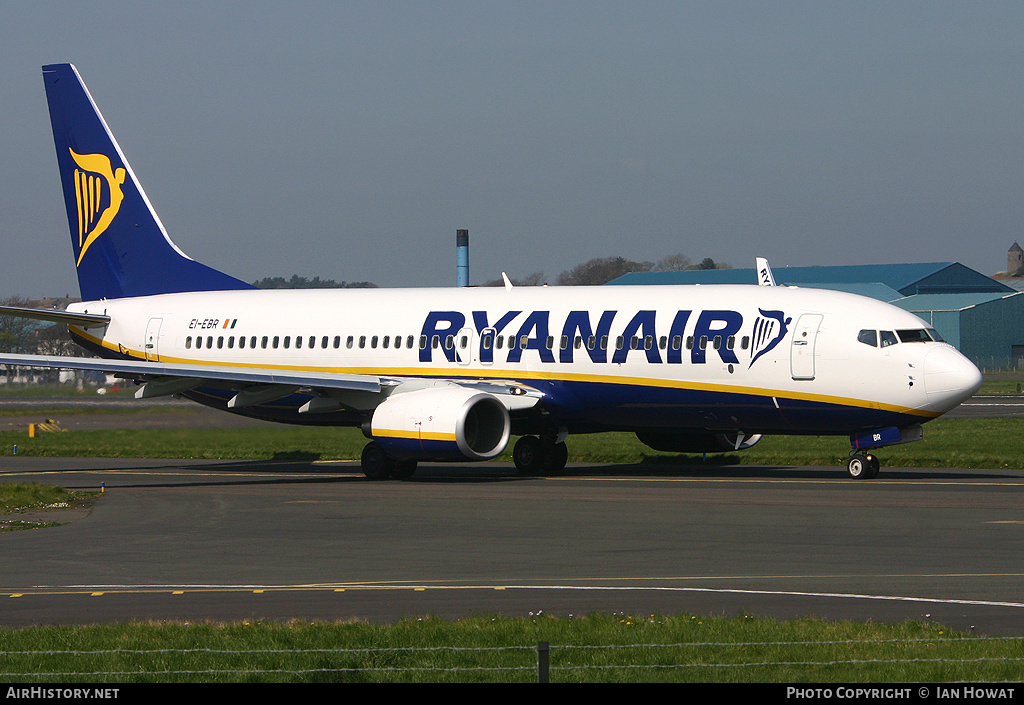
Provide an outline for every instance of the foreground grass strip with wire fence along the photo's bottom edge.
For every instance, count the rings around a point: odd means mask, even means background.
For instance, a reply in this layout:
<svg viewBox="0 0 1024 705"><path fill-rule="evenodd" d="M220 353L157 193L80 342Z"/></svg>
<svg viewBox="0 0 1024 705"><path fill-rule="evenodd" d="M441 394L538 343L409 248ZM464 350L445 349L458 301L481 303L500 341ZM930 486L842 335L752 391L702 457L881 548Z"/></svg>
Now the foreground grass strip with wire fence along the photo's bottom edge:
<svg viewBox="0 0 1024 705"><path fill-rule="evenodd" d="M6 682L937 682L1016 680L1021 638L940 625L694 615L128 623L0 630Z"/></svg>

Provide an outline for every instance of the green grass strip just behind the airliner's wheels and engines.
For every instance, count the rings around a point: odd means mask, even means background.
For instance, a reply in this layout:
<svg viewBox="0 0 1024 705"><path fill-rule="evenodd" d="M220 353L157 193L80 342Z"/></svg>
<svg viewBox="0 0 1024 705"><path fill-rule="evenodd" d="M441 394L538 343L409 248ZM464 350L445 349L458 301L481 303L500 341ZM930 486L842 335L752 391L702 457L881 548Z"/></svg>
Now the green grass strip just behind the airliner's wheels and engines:
<svg viewBox="0 0 1024 705"><path fill-rule="evenodd" d="M879 450L883 466L1024 468L1019 439L1024 419L936 419L925 441ZM206 458L238 460L357 460L367 439L355 428L260 426L248 428L139 428L40 433L0 432L0 456ZM511 460L511 448L499 459ZM570 462L681 463L711 465L844 465L845 437L766 437L737 453L662 453L632 433L571 436Z"/></svg>

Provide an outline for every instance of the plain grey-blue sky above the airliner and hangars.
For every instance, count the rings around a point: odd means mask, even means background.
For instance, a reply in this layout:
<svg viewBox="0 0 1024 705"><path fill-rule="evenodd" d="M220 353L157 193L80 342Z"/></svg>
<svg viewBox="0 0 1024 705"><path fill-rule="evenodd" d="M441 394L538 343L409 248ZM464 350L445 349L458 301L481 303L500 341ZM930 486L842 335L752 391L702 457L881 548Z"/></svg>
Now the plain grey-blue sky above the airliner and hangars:
<svg viewBox="0 0 1024 705"><path fill-rule="evenodd" d="M677 252L994 274L1024 241L1019 0L8 0L0 33L0 296L78 293L62 61L175 243L246 281L450 286L462 227L473 284Z"/></svg>

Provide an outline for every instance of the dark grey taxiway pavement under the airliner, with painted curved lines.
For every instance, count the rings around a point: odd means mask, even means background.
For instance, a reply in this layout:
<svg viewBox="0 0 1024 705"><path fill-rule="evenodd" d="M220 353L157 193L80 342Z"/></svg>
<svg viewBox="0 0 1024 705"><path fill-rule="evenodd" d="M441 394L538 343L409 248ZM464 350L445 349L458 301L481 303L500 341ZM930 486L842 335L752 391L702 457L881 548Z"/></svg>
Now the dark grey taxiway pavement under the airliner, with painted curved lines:
<svg viewBox="0 0 1024 705"><path fill-rule="evenodd" d="M104 493L0 534L0 624L690 613L1024 634L1024 471L5 458Z"/></svg>

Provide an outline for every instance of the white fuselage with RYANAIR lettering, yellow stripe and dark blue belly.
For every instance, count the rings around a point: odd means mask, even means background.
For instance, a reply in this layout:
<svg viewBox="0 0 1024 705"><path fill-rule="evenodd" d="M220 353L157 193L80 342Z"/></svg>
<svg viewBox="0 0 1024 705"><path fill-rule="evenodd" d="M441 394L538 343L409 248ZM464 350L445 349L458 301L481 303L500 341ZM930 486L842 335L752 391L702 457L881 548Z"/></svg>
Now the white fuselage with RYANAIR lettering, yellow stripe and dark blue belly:
<svg viewBox="0 0 1024 705"><path fill-rule="evenodd" d="M976 376L911 314L818 289L250 290L70 309L111 316L98 329L72 328L104 357L508 381L543 396L546 420L569 432L853 433L938 416L973 392ZM895 343L883 346L883 335ZM967 380L950 385L950 366ZM231 393L194 396L218 406ZM239 411L297 423L359 418L349 405L300 414L303 403L299 391Z"/></svg>

